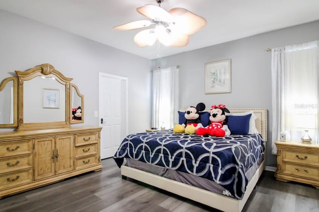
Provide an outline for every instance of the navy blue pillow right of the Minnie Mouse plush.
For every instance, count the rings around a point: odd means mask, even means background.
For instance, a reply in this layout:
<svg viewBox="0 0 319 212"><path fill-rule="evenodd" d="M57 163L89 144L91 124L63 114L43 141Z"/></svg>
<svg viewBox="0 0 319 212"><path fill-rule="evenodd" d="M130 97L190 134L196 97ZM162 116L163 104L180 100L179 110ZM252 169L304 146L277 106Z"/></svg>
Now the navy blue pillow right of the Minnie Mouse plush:
<svg viewBox="0 0 319 212"><path fill-rule="evenodd" d="M249 121L251 114L248 115L228 115L227 125L232 135L248 135Z"/></svg>

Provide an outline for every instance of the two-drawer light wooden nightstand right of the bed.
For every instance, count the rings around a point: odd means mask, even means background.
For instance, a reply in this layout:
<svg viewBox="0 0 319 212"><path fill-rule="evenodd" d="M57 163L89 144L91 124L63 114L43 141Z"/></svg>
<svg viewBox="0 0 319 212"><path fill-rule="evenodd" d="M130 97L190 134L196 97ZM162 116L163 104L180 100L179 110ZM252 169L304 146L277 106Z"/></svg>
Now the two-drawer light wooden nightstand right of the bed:
<svg viewBox="0 0 319 212"><path fill-rule="evenodd" d="M278 181L296 181L319 189L319 144L275 142Z"/></svg>

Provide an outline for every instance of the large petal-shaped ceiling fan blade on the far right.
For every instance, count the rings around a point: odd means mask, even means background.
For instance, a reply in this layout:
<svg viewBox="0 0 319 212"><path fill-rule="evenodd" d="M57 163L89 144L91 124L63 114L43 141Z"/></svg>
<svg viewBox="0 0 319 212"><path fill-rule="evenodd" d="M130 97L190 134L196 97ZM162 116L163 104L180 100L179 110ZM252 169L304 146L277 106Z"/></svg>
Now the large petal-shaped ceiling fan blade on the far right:
<svg viewBox="0 0 319 212"><path fill-rule="evenodd" d="M185 34L194 34L207 24L205 18L184 8L172 8L169 13L175 17L175 28Z"/></svg>

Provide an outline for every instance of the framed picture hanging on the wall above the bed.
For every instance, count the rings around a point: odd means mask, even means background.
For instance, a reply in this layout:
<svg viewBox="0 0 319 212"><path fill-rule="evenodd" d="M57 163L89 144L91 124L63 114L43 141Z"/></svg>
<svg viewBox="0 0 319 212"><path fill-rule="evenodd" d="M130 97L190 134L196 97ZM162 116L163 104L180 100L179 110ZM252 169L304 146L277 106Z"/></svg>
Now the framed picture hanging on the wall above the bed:
<svg viewBox="0 0 319 212"><path fill-rule="evenodd" d="M231 59L205 63L205 94L231 92Z"/></svg>

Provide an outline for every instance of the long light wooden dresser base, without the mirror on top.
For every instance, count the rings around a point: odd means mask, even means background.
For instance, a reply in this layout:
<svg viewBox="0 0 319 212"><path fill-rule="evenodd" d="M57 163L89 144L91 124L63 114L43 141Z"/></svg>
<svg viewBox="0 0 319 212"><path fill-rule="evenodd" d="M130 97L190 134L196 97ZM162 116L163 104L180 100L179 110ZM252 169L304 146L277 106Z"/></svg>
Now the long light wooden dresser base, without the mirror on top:
<svg viewBox="0 0 319 212"><path fill-rule="evenodd" d="M101 127L0 132L0 198L100 171Z"/></svg>

